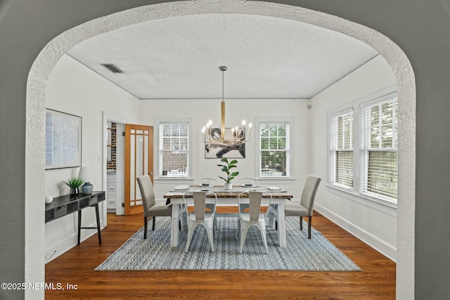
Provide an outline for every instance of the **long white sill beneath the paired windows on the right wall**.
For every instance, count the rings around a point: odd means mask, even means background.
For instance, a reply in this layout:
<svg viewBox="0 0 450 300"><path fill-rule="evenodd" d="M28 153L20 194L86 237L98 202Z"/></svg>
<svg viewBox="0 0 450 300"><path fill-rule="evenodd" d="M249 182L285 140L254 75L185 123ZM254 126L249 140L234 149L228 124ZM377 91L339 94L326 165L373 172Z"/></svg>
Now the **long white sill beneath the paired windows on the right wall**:
<svg viewBox="0 0 450 300"><path fill-rule="evenodd" d="M389 214L390 216L397 216L397 204L387 200L379 199L376 197L370 197L368 195L356 194L354 190L347 190L339 188L335 185L326 185L328 192L344 197L347 200L356 202L358 204L370 207L377 211Z"/></svg>

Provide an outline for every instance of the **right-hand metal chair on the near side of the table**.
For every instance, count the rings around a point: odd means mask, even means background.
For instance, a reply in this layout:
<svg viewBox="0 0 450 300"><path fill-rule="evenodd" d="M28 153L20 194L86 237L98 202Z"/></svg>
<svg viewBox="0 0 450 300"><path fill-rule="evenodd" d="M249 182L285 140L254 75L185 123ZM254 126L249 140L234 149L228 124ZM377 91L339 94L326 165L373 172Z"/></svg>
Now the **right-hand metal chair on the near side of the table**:
<svg viewBox="0 0 450 300"><path fill-rule="evenodd" d="M242 250L245 243L245 237L247 237L248 229L252 226L257 226L259 232L261 233L262 242L264 247L266 247L266 254L269 254L269 249L267 248L267 238L266 238L266 214L269 211L270 204L272 202L272 195L270 193L264 192L254 192L246 191L238 195L238 204L241 207L241 197L248 195L250 210L248 212L243 212L239 209L239 222L236 237L240 237L239 254L242 254ZM262 196L269 195L270 200L266 207L266 212L262 213Z"/></svg>

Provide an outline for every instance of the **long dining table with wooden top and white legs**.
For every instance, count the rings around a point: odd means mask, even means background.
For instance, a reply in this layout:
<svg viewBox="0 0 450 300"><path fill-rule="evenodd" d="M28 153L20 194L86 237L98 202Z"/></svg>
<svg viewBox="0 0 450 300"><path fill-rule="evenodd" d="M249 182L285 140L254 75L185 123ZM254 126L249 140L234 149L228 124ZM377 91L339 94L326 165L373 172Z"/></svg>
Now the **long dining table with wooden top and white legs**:
<svg viewBox="0 0 450 300"><path fill-rule="evenodd" d="M169 190L165 193L164 198L167 204L172 204L172 221L171 221L171 234L170 234L170 245L171 247L178 246L179 240L179 212L184 205L183 196L186 193L193 193L195 191L212 192L217 195L217 206L238 206L238 195L245 191L260 191L264 193L271 194L271 200L269 195L264 195L262 197L262 205L268 205L269 201L271 209L268 209L268 227L275 227L278 232L278 246L286 247L286 226L285 226L285 214L284 206L286 201L290 201L293 195L288 193L288 191L283 188L272 187L272 186L235 186L231 190L226 190L224 186L221 185L181 185ZM214 203L214 195L207 196L207 203ZM192 197L185 197L186 204L191 204L193 202ZM240 198L241 204L248 204L248 197ZM238 214L233 213L221 213L217 216L223 217L238 217ZM274 220L278 221L277 226L274 226Z"/></svg>

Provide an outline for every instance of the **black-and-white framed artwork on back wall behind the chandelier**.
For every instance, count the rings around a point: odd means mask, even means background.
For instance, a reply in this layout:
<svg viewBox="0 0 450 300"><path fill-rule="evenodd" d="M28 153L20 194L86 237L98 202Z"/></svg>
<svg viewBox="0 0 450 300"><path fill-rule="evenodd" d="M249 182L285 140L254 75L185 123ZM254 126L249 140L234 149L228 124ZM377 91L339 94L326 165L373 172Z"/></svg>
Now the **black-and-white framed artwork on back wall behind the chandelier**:
<svg viewBox="0 0 450 300"><path fill-rule="evenodd" d="M212 128L205 143L205 158L245 158L245 139L231 128L225 129L225 141L220 141L221 129Z"/></svg>

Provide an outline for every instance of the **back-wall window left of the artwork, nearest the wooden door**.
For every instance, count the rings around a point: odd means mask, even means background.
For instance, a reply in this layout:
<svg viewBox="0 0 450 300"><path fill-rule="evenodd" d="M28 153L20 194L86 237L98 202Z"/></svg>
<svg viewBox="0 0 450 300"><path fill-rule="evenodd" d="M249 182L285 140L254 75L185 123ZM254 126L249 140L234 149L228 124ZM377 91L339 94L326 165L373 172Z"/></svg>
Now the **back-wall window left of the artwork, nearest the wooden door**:
<svg viewBox="0 0 450 300"><path fill-rule="evenodd" d="M160 178L187 178L190 159L189 122L159 123L159 159Z"/></svg>

